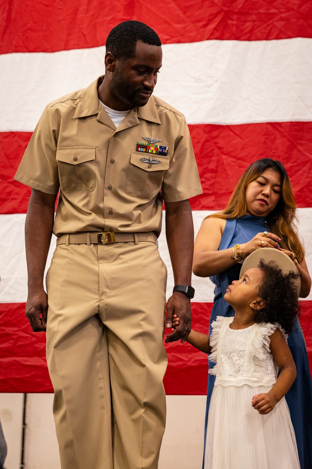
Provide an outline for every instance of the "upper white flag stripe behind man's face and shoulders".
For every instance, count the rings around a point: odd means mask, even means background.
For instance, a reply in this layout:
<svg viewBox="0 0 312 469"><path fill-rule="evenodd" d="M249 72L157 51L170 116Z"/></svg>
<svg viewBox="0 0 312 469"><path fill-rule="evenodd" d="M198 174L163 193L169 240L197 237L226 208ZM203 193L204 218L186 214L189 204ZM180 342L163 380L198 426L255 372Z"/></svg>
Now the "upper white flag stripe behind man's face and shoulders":
<svg viewBox="0 0 312 469"><path fill-rule="evenodd" d="M312 39L165 44L156 96L189 124L312 121ZM0 55L0 131L33 131L47 103L104 73L105 47Z"/></svg>

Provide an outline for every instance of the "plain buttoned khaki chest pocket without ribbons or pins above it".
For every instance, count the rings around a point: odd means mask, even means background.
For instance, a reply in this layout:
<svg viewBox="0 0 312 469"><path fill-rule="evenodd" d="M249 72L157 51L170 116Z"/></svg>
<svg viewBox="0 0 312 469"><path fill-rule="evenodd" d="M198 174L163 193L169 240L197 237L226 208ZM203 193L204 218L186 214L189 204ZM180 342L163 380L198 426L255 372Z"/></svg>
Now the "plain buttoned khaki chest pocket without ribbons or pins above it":
<svg viewBox="0 0 312 469"><path fill-rule="evenodd" d="M95 147L61 147L56 159L61 186L72 190L95 189Z"/></svg>

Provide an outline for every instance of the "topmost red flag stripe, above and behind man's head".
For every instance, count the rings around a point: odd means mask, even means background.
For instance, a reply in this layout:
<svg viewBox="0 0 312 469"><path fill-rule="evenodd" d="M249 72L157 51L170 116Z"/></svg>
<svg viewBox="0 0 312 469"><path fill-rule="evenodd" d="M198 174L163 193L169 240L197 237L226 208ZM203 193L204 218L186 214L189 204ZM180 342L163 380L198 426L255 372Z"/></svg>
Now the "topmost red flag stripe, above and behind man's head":
<svg viewBox="0 0 312 469"><path fill-rule="evenodd" d="M0 18L0 53L105 45L109 31L125 20L148 23L164 44L312 37L312 5L306 0L6 0Z"/></svg>

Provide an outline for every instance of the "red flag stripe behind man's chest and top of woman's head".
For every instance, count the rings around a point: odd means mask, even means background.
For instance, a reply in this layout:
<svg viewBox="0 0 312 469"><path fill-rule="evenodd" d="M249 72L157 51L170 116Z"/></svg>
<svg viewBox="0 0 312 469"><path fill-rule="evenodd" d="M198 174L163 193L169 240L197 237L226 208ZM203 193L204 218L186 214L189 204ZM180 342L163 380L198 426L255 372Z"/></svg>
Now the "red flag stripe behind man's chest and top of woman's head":
<svg viewBox="0 0 312 469"><path fill-rule="evenodd" d="M189 125L203 195L193 210L225 207L240 175L256 159L279 159L290 175L298 207L312 207L312 122ZM29 132L0 133L0 213L25 213L30 189L14 181Z"/></svg>

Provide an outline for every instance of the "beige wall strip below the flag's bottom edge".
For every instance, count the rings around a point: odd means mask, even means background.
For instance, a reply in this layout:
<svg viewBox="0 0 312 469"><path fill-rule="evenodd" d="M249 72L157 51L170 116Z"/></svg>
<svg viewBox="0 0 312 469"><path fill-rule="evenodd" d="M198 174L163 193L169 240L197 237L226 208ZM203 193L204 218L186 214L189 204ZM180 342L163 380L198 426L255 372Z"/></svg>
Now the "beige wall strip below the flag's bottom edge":
<svg viewBox="0 0 312 469"><path fill-rule="evenodd" d="M53 394L27 395L25 469L60 469L52 416ZM167 427L159 469L200 469L205 396L167 396ZM5 469L20 469L23 394L0 394L0 419L7 440Z"/></svg>

